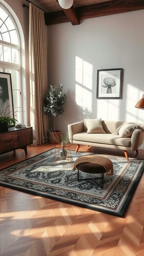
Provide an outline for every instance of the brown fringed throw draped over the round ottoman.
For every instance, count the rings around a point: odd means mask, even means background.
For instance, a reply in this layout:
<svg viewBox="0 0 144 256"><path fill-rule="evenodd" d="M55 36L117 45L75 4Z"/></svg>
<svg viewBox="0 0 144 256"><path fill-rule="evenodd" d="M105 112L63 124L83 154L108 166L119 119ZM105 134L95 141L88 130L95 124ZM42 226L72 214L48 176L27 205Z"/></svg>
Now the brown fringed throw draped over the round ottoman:
<svg viewBox="0 0 144 256"><path fill-rule="evenodd" d="M97 164L97 165L103 166L106 170L107 176L111 176L114 174L113 164L111 160L104 156L94 156L94 155L80 156L74 162L73 172L75 171L76 166L78 164L83 164L83 163Z"/></svg>

